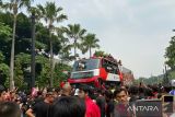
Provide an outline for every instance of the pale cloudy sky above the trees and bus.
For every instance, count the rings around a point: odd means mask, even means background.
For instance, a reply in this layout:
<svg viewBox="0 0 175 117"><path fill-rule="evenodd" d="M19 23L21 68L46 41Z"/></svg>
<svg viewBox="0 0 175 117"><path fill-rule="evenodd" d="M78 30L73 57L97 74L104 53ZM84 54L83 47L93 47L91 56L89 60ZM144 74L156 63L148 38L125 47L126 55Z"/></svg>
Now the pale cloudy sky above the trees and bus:
<svg viewBox="0 0 175 117"><path fill-rule="evenodd" d="M96 34L101 49L120 59L136 78L163 73L165 48L175 35L175 0L55 1L68 21Z"/></svg>

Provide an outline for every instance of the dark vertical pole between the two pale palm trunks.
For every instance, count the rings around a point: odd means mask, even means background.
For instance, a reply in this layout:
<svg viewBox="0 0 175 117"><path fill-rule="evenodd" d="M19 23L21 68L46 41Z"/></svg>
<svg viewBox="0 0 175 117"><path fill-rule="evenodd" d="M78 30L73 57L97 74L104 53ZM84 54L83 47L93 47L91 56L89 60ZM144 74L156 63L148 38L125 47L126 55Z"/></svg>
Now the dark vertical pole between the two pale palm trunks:
<svg viewBox="0 0 175 117"><path fill-rule="evenodd" d="M31 90L35 87L35 13L32 13Z"/></svg>

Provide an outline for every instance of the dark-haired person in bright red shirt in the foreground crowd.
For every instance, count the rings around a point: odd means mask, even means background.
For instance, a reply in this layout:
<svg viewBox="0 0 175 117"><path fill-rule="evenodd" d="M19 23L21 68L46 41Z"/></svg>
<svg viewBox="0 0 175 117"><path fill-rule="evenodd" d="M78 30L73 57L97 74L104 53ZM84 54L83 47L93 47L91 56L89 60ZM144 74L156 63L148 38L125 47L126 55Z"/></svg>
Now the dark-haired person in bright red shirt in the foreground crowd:
<svg viewBox="0 0 175 117"><path fill-rule="evenodd" d="M85 117L101 117L101 110L98 106L90 98L89 94L90 86L86 84L81 84L79 86L79 97L85 101Z"/></svg>

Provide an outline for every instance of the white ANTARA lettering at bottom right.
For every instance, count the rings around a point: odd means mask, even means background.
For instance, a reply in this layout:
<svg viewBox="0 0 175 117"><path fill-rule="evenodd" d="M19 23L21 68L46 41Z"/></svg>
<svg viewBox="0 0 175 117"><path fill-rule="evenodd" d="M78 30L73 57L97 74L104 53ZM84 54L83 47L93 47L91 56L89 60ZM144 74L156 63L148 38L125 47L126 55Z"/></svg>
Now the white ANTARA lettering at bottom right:
<svg viewBox="0 0 175 117"><path fill-rule="evenodd" d="M160 112L156 106L129 106L129 112Z"/></svg>

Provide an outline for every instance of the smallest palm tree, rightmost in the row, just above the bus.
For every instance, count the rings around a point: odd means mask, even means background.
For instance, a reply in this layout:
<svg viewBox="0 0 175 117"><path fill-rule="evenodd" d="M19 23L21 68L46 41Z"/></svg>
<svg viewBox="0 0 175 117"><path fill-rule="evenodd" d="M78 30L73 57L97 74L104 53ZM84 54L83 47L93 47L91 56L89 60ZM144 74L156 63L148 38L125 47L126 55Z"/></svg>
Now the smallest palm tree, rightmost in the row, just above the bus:
<svg viewBox="0 0 175 117"><path fill-rule="evenodd" d="M97 44L100 39L95 37L95 34L88 34L82 39L82 52L85 54L88 50L90 50L90 57L92 57L92 48L100 48L100 45Z"/></svg>

